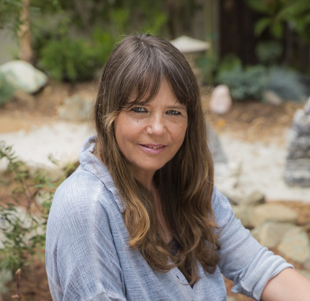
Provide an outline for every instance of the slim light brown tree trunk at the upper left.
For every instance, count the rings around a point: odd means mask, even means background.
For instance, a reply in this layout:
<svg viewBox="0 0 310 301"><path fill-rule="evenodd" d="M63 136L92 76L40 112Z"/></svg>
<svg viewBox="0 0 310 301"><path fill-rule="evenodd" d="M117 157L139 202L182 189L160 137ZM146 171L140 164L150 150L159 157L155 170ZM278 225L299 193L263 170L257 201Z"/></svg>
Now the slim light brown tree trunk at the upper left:
<svg viewBox="0 0 310 301"><path fill-rule="evenodd" d="M20 42L19 58L26 62L31 63L32 60L32 47L31 47L31 32L29 22L29 4L30 0L22 0L23 8L20 14L22 25L18 33Z"/></svg>

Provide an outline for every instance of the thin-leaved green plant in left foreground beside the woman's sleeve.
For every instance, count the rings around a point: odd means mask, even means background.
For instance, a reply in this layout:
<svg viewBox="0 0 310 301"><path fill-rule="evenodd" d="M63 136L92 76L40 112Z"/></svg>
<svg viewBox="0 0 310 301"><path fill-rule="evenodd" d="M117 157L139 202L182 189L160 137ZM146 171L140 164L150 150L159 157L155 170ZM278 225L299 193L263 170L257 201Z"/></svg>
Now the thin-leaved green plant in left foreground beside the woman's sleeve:
<svg viewBox="0 0 310 301"><path fill-rule="evenodd" d="M13 203L0 205L0 269L14 272L29 264L34 255L43 260L40 250L45 247L47 216L54 191L64 177L51 179L40 170L30 177L29 169L15 156L12 147L0 141L0 160L4 158L15 187L9 195ZM70 168L72 165L67 169ZM18 206L21 200L23 207Z"/></svg>

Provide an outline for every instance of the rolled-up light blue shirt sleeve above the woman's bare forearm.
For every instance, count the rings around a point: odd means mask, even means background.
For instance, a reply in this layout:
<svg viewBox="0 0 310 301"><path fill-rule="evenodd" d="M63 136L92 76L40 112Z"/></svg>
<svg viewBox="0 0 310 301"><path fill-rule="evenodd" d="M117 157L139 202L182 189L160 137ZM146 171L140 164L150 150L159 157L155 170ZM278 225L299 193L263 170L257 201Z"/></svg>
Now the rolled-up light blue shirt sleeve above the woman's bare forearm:
<svg viewBox="0 0 310 301"><path fill-rule="evenodd" d="M234 282L233 293L260 300L267 282L285 268L293 268L253 238L236 219L228 199L214 188L212 207L219 227L219 269Z"/></svg>

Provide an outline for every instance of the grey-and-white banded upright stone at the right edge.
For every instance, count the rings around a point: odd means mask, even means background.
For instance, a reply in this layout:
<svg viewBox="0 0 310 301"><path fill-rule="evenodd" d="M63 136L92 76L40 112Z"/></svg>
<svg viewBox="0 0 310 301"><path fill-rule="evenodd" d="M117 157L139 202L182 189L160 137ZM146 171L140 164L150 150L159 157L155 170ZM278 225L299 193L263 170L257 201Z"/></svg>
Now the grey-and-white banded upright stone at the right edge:
<svg viewBox="0 0 310 301"><path fill-rule="evenodd" d="M293 117L284 180L290 186L310 187L310 97Z"/></svg>

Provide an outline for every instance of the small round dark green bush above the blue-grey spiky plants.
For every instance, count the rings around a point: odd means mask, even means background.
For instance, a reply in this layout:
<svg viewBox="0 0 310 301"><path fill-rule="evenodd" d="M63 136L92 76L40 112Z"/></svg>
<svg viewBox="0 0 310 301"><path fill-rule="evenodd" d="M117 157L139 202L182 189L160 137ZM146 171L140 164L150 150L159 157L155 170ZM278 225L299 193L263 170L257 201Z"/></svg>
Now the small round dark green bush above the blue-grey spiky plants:
<svg viewBox="0 0 310 301"><path fill-rule="evenodd" d="M277 63L283 53L278 41L259 41L255 47L255 54L260 63L273 65Z"/></svg>

